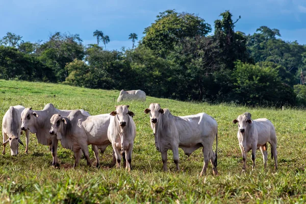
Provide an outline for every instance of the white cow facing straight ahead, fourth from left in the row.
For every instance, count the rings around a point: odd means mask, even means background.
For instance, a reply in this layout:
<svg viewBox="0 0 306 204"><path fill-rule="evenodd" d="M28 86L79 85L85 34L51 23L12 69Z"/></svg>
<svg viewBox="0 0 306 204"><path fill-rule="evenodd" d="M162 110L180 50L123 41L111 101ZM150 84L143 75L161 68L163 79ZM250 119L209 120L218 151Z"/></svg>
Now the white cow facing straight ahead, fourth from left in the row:
<svg viewBox="0 0 306 204"><path fill-rule="evenodd" d="M131 171L132 151L136 136L136 125L132 117L135 114L129 111L130 106L116 106L116 110L110 113L111 120L107 136L115 151L117 168L120 168L121 153L123 166ZM127 163L126 163L127 160Z"/></svg>

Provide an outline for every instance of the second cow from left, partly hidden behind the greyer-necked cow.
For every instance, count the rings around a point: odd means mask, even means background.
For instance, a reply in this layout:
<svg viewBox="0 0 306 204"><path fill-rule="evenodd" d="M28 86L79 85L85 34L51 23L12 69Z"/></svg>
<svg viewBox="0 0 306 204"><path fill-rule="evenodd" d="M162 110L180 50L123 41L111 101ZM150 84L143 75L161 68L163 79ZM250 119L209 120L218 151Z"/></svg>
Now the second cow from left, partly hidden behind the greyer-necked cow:
<svg viewBox="0 0 306 204"><path fill-rule="evenodd" d="M54 114L61 114L68 116L72 110L59 110L56 109L53 104L47 104L41 111L34 111L32 108L25 108L21 113L21 130L30 130L31 133L35 133L38 143L48 145L52 152L52 165L59 166L57 159L58 140L60 138L55 137L49 133L50 131L50 118ZM84 115L89 115L88 112L81 110Z"/></svg>

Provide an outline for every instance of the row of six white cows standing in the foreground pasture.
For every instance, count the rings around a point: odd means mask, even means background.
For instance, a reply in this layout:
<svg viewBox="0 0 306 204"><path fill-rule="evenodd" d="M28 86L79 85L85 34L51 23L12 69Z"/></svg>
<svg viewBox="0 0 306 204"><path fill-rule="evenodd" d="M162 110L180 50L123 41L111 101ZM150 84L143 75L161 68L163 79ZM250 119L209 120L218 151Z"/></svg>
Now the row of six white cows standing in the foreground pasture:
<svg viewBox="0 0 306 204"><path fill-rule="evenodd" d="M179 147L187 156L202 147L203 168L200 173L206 174L209 162L213 166L213 173L217 171L218 124L206 113L189 116L174 116L169 109L162 109L159 104L150 104L144 110L149 114L150 126L155 136L155 146L161 152L163 170L167 170L167 151L172 150L176 170L179 167ZM136 136L136 125L133 120L135 114L129 106L116 106L116 110L107 114L90 115L84 110L59 110L52 104L47 104L43 110L32 110L22 106L11 106L3 118L3 154L9 143L11 155L18 154L20 132L25 132L25 153L29 149L30 132L36 134L38 143L48 145L52 152L53 165L58 166L58 141L64 148L74 152L74 165L77 167L82 152L91 165L88 145L92 149L99 166L99 154L106 147L112 145L112 164L120 168L121 156L123 166L131 170L132 151ZM267 164L267 143L271 144L271 157L277 169L276 134L271 121L268 119L251 119L250 113L239 115L233 123L238 123L238 141L245 170L246 152L252 152L252 168L255 168L256 150L263 154L264 167ZM216 139L216 151L213 142Z"/></svg>

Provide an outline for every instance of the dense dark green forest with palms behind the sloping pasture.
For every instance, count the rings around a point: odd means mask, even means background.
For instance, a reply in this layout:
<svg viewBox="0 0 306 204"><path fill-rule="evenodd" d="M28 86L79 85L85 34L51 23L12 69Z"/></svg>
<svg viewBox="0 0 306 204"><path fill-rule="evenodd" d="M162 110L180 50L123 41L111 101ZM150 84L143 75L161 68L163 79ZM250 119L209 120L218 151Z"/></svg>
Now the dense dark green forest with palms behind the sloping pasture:
<svg viewBox="0 0 306 204"><path fill-rule="evenodd" d="M306 45L281 39L262 26L246 35L225 11L212 25L197 15L167 10L144 29L132 49L107 50L111 38L94 31L96 44L78 34L52 34L24 42L0 40L0 78L99 89L141 89L150 96L250 106L306 106ZM101 45L103 44L103 45Z"/></svg>

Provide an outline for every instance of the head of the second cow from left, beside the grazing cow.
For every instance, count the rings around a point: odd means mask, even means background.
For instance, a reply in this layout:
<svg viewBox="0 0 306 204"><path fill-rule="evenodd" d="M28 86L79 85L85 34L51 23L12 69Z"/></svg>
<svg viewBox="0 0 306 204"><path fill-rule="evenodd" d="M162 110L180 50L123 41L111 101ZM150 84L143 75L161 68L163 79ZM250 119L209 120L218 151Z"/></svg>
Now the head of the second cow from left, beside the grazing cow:
<svg viewBox="0 0 306 204"><path fill-rule="evenodd" d="M30 130L31 133L36 133L34 124L36 118L39 117L32 108L26 108L21 112L21 130Z"/></svg>

